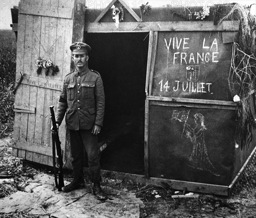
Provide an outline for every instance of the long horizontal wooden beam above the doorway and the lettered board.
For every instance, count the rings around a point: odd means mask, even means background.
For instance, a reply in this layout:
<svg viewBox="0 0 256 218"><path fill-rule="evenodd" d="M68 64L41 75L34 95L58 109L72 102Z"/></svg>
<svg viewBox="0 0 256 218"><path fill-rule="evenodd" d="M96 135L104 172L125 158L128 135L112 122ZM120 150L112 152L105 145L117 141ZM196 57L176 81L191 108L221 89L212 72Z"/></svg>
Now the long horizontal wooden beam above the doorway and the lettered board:
<svg viewBox="0 0 256 218"><path fill-rule="evenodd" d="M149 32L149 31L239 31L239 21L224 21L214 25L213 21L175 21L175 22L121 22L117 29L113 23L85 23L84 30L89 33L108 32Z"/></svg>

